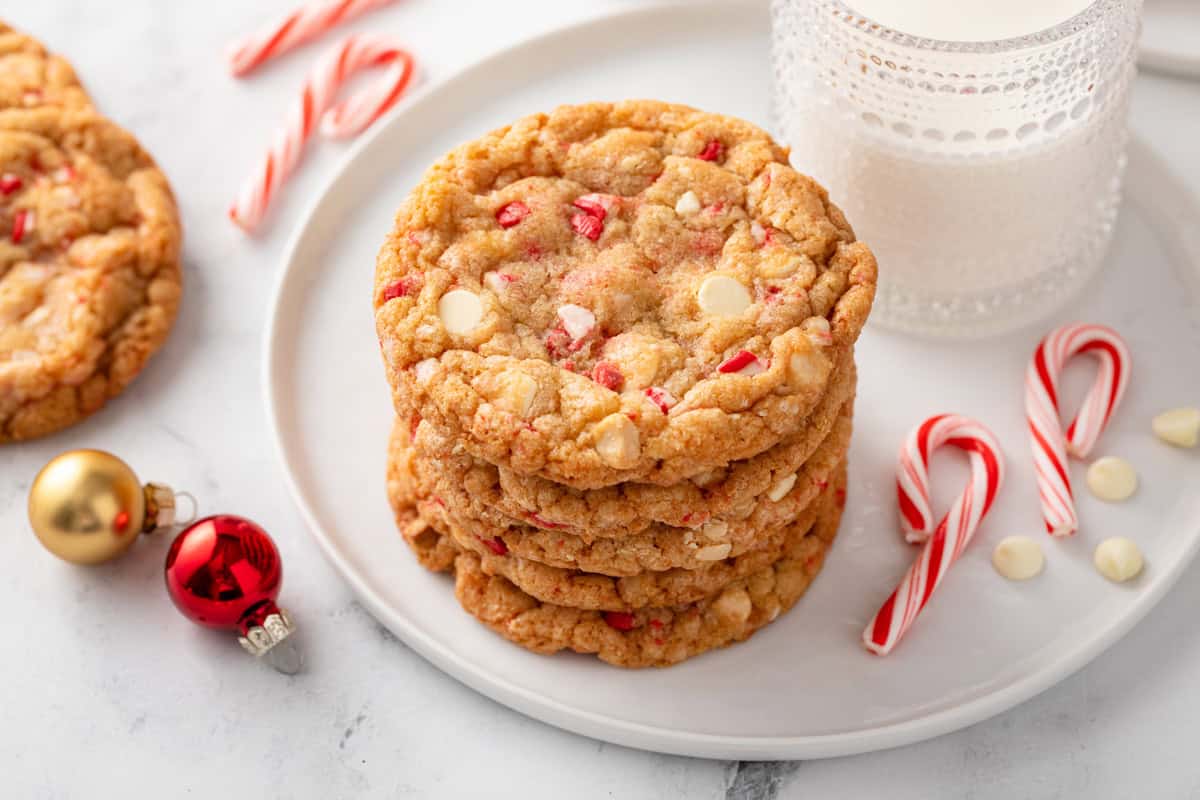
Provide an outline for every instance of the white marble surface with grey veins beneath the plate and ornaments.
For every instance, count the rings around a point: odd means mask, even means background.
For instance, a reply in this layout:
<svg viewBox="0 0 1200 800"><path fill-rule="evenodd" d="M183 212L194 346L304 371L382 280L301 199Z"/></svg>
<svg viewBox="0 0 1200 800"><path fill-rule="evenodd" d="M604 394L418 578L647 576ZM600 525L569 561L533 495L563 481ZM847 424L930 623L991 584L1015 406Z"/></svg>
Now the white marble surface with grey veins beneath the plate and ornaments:
<svg viewBox="0 0 1200 800"><path fill-rule="evenodd" d="M1200 565L1123 642L988 722L868 756L733 764L642 753L566 734L438 673L368 616L322 559L282 485L259 390L268 290L306 198L343 148L320 144L265 235L224 217L308 66L308 48L238 83L220 54L292 0L42 0L2 16L67 55L98 106L174 182L186 300L140 380L94 420L0 450L0 795L521 798L1181 798L1200 795ZM631 6L407 0L368 24L409 42L422 79L564 22ZM1200 190L1200 84L1142 77L1134 125ZM331 367L330 380L336 380ZM162 588L164 542L76 569L28 530L40 465L113 450L208 511L258 519L284 554L287 606L308 668L282 678L200 631ZM686 702L686 698L680 698Z"/></svg>

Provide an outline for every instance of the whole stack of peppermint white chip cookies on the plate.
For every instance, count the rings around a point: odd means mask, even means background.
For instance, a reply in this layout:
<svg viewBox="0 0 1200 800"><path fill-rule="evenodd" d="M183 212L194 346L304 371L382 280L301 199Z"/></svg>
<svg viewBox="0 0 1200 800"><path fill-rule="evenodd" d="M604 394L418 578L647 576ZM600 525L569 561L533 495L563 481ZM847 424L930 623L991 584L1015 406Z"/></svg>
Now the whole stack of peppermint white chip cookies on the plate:
<svg viewBox="0 0 1200 800"><path fill-rule="evenodd" d="M402 535L538 652L666 666L748 638L838 530L875 281L737 119L595 103L456 149L376 273Z"/></svg>

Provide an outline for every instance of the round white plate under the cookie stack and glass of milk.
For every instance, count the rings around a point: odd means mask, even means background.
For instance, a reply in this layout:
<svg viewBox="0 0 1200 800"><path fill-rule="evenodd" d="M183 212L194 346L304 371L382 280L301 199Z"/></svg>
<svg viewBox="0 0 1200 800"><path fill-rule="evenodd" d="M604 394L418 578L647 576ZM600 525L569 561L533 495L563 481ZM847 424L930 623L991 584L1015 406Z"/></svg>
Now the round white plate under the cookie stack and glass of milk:
<svg viewBox="0 0 1200 800"><path fill-rule="evenodd" d="M1108 270L1056 321L1110 323L1129 339L1133 384L1098 455L1132 459L1142 488L1120 506L1082 497L1082 533L1044 540L1040 578L1007 583L989 557L1002 536L1040 530L1021 379L1044 329L971 344L864 335L841 535L799 606L744 644L640 672L536 656L475 622L449 578L416 565L384 498L392 413L371 314L374 255L395 209L452 145L558 103L660 97L762 122L767 28L760 4L642 8L532 41L428 88L372 131L311 209L288 249L266 342L266 401L296 501L389 628L455 678L539 720L719 758L853 753L1003 711L1128 631L1200 542L1196 455L1148 433L1162 407L1200 401L1200 241L1190 233L1200 210L1135 144ZM803 154L798 162L803 168ZM1090 373L1075 368L1073 392ZM992 426L1010 479L916 628L878 658L859 633L914 553L896 529L894 455L912 425L944 410ZM937 467L943 494L956 492L961 465L947 457ZM1081 485L1082 468L1073 471ZM1114 534L1135 537L1146 553L1145 573L1128 585L1106 583L1091 566L1092 548Z"/></svg>

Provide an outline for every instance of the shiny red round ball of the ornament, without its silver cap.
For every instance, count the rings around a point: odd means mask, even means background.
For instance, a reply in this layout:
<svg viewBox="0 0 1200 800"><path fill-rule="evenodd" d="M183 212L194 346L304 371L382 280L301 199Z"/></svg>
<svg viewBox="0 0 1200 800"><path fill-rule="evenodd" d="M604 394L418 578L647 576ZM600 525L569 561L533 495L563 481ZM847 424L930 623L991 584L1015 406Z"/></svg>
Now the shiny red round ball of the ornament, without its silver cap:
<svg viewBox="0 0 1200 800"><path fill-rule="evenodd" d="M167 553L167 591L184 616L208 627L235 627L242 636L278 610L282 581L275 542L244 517L198 519Z"/></svg>

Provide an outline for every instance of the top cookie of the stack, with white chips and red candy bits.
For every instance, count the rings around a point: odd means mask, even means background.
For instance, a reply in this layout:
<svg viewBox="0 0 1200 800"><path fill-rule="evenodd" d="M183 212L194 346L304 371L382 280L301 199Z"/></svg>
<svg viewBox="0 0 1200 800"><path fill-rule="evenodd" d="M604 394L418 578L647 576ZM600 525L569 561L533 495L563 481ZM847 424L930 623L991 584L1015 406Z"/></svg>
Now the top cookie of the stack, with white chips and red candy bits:
<svg viewBox="0 0 1200 800"><path fill-rule="evenodd" d="M563 107L463 145L376 271L398 410L577 488L674 483L794 433L876 267L760 128L683 106Z"/></svg>

